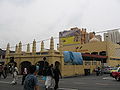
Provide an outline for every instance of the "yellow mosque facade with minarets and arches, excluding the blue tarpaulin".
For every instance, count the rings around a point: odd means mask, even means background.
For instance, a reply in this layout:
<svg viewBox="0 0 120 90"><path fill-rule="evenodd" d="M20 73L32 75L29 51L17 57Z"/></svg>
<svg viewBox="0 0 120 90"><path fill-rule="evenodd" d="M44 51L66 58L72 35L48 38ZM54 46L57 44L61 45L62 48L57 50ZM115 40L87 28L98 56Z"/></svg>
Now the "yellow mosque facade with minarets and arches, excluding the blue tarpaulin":
<svg viewBox="0 0 120 90"><path fill-rule="evenodd" d="M84 38L82 38L83 40ZM50 39L50 49L45 50L44 42L41 42L41 50L36 52L36 41L32 43L32 52L30 44L27 44L26 52L22 51L22 43L16 45L15 52L10 53L10 44L6 48L6 64L12 60L17 64L20 74L23 68L30 64L44 66L45 62L59 65L63 76L84 75L94 73L94 69L103 65L116 66L120 64L120 45L112 42L100 41L94 36L87 43L64 44L64 40L59 38L59 47L54 49L54 38ZM80 52L83 57L82 65L72 65L64 62L64 51ZM45 57L45 59L44 59Z"/></svg>

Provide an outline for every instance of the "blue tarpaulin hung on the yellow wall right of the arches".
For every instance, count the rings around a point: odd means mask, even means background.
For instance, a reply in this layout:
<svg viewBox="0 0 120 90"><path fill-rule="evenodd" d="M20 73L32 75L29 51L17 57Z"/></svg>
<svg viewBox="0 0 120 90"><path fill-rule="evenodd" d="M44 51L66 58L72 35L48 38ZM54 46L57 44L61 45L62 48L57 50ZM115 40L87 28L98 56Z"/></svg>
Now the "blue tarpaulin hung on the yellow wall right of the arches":
<svg viewBox="0 0 120 90"><path fill-rule="evenodd" d="M64 51L64 62L82 65L83 58L80 52Z"/></svg>

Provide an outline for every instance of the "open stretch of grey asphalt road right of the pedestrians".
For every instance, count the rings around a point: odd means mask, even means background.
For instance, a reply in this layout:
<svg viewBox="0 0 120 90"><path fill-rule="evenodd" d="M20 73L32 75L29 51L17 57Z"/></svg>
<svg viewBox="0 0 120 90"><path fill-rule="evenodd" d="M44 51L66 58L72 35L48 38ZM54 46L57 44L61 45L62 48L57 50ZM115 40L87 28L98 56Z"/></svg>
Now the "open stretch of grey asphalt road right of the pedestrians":
<svg viewBox="0 0 120 90"><path fill-rule="evenodd" d="M60 87L78 90L120 90L120 82L109 75L81 76L65 78L60 81Z"/></svg>

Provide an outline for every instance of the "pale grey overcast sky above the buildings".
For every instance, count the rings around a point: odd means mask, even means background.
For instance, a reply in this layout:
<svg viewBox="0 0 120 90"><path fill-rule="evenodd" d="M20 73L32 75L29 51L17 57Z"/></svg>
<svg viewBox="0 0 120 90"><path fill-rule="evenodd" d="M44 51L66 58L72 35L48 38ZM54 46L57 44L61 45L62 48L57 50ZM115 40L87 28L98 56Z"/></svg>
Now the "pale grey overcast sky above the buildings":
<svg viewBox="0 0 120 90"><path fill-rule="evenodd" d="M0 48L58 37L71 27L120 28L120 0L0 0Z"/></svg>

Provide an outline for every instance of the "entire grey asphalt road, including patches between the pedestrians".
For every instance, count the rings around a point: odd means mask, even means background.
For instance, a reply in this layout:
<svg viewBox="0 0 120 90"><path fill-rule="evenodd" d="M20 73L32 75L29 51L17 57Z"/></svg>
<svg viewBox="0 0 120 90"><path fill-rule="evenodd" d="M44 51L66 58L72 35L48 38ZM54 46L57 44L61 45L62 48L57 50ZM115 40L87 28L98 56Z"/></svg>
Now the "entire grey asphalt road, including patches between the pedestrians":
<svg viewBox="0 0 120 90"><path fill-rule="evenodd" d="M12 77L0 79L0 90L23 90L21 85L21 76L18 78L17 85L10 85ZM40 87L44 87L43 81L40 80ZM43 88L41 90L44 90ZM120 81L116 81L109 75L102 76L78 76L63 78L59 83L59 90L120 90Z"/></svg>

